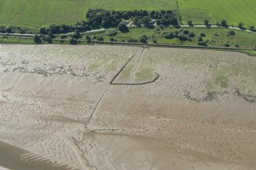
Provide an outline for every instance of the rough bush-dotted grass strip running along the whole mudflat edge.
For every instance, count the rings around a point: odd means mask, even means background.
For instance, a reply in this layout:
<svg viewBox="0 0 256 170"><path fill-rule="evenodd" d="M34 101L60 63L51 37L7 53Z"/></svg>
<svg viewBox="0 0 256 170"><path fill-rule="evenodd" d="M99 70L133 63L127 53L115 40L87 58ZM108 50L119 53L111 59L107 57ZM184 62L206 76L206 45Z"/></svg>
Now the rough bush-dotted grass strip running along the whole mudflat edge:
<svg viewBox="0 0 256 170"><path fill-rule="evenodd" d="M147 43L161 43L161 44L182 44L182 45L198 45L198 37L200 34L205 34L205 37L202 37L204 41L207 42L209 47L241 47L244 49L255 49L256 48L256 34L245 32L242 30L235 30L235 35L228 35L229 29L225 28L199 28L199 27L187 27L183 28L187 31L193 32L195 37L190 37L190 40L182 41L178 38L166 39L164 37L167 33L172 33L179 31L180 28L174 27L164 27L163 29L156 28L146 28L146 27L134 27L130 28L128 33L122 33L118 29L112 28L117 34L115 36L107 36L107 30L102 30L99 33L83 33L82 38L79 39L80 42L85 43L86 36L93 41L97 41L99 37L102 37L104 41L110 42L114 40L115 42L128 42L129 39L133 38L135 40L140 40L141 35L147 37ZM60 40L63 40L62 43L70 43L70 37L64 39L60 38L60 35L53 39L53 43L60 43ZM34 43L32 37L6 37L0 36L0 43ZM43 43L47 43L44 42ZM251 55L255 55L256 52L248 52Z"/></svg>

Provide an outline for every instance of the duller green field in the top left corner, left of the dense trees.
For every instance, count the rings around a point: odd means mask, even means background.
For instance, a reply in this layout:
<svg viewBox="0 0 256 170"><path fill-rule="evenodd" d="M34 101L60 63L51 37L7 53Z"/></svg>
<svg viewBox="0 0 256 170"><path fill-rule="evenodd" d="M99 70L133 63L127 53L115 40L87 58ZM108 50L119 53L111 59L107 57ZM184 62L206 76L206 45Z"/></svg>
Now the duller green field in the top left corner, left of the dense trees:
<svg viewBox="0 0 256 170"><path fill-rule="evenodd" d="M1 0L0 24L41 27L85 18L87 0Z"/></svg>

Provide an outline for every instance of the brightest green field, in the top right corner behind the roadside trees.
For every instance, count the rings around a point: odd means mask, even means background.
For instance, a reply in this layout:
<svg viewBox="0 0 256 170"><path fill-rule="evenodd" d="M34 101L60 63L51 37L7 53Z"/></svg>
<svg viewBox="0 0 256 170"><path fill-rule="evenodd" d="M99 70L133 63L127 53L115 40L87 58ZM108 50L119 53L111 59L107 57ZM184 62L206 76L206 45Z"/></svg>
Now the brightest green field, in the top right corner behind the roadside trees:
<svg viewBox="0 0 256 170"><path fill-rule="evenodd" d="M183 23L192 20L202 24L204 19L210 23L225 19L228 24L245 23L245 27L256 26L255 0L177 0Z"/></svg>

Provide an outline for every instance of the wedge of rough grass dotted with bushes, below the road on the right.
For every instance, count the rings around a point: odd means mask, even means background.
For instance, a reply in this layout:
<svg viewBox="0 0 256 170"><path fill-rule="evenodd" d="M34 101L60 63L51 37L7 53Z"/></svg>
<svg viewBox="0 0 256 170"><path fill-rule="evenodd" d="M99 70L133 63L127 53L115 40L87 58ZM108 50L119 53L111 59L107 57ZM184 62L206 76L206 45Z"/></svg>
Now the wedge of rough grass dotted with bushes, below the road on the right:
<svg viewBox="0 0 256 170"><path fill-rule="evenodd" d="M200 33L206 34L206 37L203 37L203 40L208 41L209 47L225 47L227 44L229 47L239 47L253 49L256 47L256 34L248 33L241 30L235 30L235 35L228 35L229 29L224 28L196 28L189 27L185 28L186 30L193 31L195 37L191 37L191 41L181 41L177 38L166 39L164 38L165 33L174 32L180 30L180 28L166 27L164 29L150 29L146 27L141 28L131 28L128 33L122 33L119 30L117 35L109 37L105 33L95 34L96 37L103 37L105 41L109 41L111 38L116 41L128 41L129 38L139 39L142 34L147 36L147 42L153 43L153 40L156 40L157 43L173 43L173 44L183 44L183 45L197 45ZM84 34L85 35L85 34ZM84 36L85 37L85 36Z"/></svg>

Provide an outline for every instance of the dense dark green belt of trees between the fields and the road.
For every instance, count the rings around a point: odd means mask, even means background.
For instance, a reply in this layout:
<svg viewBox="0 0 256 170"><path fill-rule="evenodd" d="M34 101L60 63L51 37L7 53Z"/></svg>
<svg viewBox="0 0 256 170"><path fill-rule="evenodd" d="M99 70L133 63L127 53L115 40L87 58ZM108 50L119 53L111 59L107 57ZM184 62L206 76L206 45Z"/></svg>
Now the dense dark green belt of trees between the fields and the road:
<svg viewBox="0 0 256 170"><path fill-rule="evenodd" d="M132 20L134 24L151 24L154 19L157 24L178 24L177 17L173 11L106 11L104 9L89 9L86 13L87 21L76 24L50 24L48 27L41 27L39 32L43 35L67 34L74 31L86 32L101 27L118 27L122 20Z"/></svg>

